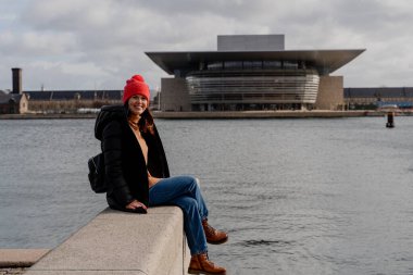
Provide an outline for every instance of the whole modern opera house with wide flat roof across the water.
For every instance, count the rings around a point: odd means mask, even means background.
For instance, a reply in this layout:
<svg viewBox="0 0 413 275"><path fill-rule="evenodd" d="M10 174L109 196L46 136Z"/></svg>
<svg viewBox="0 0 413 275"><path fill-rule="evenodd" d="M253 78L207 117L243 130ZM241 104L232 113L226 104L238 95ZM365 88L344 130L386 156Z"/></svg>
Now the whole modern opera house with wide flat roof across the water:
<svg viewBox="0 0 413 275"><path fill-rule="evenodd" d="M146 52L161 79L162 111L338 110L342 76L364 49L285 50L284 35L218 36L217 51Z"/></svg>

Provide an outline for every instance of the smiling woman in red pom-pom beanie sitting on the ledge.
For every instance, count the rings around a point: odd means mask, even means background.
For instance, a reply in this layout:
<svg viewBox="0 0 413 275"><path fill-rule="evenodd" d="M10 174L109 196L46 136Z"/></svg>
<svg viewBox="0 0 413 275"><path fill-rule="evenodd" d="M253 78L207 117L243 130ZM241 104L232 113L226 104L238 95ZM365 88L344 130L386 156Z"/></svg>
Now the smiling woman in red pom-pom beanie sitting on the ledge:
<svg viewBox="0 0 413 275"><path fill-rule="evenodd" d="M112 209L147 213L148 207L178 205L191 252L190 274L226 274L208 259L209 243L224 243L228 236L208 224L208 209L197 179L170 177L165 152L149 105L149 87L140 75L126 82L124 105L102 108L95 135L102 141L107 200Z"/></svg>

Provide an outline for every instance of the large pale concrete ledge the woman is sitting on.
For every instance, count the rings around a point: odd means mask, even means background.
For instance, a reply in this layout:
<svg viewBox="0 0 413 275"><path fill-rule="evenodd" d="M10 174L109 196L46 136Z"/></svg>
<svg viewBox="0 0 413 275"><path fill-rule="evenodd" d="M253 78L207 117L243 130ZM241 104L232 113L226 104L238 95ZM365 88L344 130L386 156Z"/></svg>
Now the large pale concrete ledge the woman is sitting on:
<svg viewBox="0 0 413 275"><path fill-rule="evenodd" d="M186 274L183 225L177 207L146 215L107 209L25 274Z"/></svg>

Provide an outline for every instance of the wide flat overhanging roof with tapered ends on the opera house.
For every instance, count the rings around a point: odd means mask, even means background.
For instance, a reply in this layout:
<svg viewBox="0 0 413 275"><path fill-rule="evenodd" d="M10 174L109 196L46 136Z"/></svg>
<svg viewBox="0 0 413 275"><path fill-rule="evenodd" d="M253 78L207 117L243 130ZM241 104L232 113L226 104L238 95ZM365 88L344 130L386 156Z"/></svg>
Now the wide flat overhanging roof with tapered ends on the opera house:
<svg viewBox="0 0 413 275"><path fill-rule="evenodd" d="M284 50L284 51L173 51L146 52L146 54L164 70L174 74L175 70L199 70L200 62L213 61L305 61L318 71L329 74L349 63L365 49L348 50Z"/></svg>

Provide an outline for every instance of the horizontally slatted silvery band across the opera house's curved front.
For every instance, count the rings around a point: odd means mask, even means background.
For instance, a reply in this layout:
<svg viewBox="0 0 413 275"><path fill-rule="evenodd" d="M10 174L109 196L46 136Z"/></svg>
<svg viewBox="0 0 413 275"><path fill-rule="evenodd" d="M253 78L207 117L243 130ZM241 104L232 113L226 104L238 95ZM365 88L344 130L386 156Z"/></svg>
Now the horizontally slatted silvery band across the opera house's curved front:
<svg viewBox="0 0 413 275"><path fill-rule="evenodd" d="M192 104L313 104L315 70L191 72L186 77Z"/></svg>

